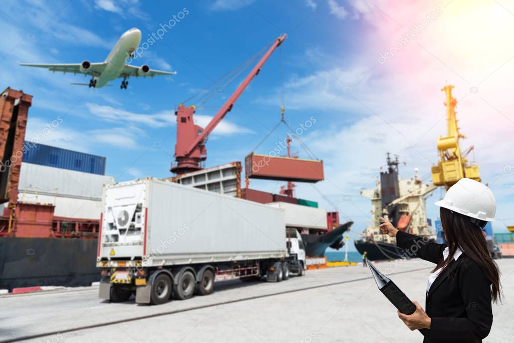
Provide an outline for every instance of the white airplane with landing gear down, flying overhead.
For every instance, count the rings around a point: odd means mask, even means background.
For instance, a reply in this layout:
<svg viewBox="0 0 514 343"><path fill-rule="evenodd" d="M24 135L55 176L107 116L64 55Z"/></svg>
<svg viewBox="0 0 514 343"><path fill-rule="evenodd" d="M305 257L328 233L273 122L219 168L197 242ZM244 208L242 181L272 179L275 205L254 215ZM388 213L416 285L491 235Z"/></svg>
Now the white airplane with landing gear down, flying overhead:
<svg viewBox="0 0 514 343"><path fill-rule="evenodd" d="M83 61L82 63L72 64L40 64L40 63L19 63L21 66L46 68L50 71L62 71L64 73L72 72L74 74L81 73L89 75L91 80L87 83L72 83L72 85L89 86L89 88L102 88L111 86L108 83L118 78L123 78L121 89L126 89L128 85L127 79L130 77L155 77L156 75L175 75L176 72L161 71L150 69L148 65L143 64L140 67L126 64L128 58L134 57L139 43L141 42L141 31L132 28L123 33L109 52L105 62L91 63Z"/></svg>

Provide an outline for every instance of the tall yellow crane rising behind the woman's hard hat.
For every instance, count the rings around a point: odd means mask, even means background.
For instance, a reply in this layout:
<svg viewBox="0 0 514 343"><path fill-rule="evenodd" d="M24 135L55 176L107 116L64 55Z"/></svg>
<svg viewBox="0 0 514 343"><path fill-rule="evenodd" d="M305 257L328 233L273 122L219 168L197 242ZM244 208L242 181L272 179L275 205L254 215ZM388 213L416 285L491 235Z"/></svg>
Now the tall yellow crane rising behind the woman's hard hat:
<svg viewBox="0 0 514 343"><path fill-rule="evenodd" d="M445 186L446 189L462 178L481 181L479 166L476 163L469 163L466 159L466 156L474 147L469 147L464 153L461 152L459 140L466 137L458 131L459 127L455 116L457 100L451 94L453 88L454 86L448 85L441 89L446 95L448 136L439 136L437 150L439 150L440 161L432 167L432 182L436 186Z"/></svg>

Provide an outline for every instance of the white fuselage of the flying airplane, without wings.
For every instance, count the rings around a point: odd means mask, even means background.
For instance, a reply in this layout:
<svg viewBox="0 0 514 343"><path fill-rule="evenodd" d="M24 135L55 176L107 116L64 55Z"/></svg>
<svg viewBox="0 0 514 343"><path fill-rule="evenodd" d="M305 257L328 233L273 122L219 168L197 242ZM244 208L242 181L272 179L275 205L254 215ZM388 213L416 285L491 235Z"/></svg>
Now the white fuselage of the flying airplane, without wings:
<svg viewBox="0 0 514 343"><path fill-rule="evenodd" d="M105 69L100 76L94 77L96 80L95 88L101 88L109 81L119 78L127 57L136 51L140 42L141 31L136 28L130 29L121 35L105 59Z"/></svg>

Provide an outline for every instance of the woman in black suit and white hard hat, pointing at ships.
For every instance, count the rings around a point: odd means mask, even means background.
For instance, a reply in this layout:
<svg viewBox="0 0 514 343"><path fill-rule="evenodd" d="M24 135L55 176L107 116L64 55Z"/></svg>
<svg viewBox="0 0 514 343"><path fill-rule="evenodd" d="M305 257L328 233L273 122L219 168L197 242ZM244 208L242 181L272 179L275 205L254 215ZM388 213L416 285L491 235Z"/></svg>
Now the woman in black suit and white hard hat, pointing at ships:
<svg viewBox="0 0 514 343"><path fill-rule="evenodd" d="M424 342L481 342L492 326L491 300L500 299L500 277L481 228L494 220L496 201L484 184L461 179L440 206L440 219L448 244L398 231L381 218L383 233L396 237L401 248L436 264L427 284L426 312L414 301L416 312L398 317Z"/></svg>

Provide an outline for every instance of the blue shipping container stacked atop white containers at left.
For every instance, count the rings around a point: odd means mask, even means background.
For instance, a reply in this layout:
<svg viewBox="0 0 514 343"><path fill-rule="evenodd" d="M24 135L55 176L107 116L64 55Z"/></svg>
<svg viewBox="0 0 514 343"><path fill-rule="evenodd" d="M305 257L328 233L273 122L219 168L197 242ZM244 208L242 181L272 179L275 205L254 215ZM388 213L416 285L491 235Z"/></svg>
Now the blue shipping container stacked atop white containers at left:
<svg viewBox="0 0 514 343"><path fill-rule="evenodd" d="M23 162L105 175L105 157L25 141Z"/></svg>

